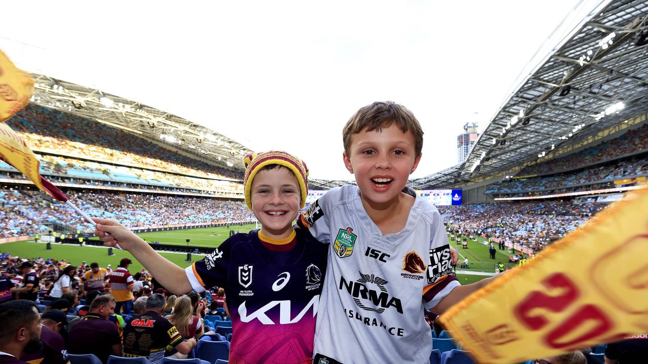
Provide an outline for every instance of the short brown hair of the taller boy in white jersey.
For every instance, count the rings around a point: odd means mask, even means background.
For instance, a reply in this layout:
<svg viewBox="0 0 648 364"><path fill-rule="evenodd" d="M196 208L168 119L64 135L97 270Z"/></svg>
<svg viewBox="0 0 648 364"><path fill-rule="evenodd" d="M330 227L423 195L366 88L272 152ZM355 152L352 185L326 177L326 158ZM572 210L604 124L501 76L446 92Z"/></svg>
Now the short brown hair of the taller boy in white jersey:
<svg viewBox="0 0 648 364"><path fill-rule="evenodd" d="M382 128L388 128L393 123L403 133L411 131L414 136L416 157L419 157L423 148L423 130L421 129L421 124L419 124L419 120L416 119L410 110L393 101L376 101L356 111L342 130L344 152L349 155L351 137L354 134L360 133L360 131L365 129L367 131L381 131Z"/></svg>

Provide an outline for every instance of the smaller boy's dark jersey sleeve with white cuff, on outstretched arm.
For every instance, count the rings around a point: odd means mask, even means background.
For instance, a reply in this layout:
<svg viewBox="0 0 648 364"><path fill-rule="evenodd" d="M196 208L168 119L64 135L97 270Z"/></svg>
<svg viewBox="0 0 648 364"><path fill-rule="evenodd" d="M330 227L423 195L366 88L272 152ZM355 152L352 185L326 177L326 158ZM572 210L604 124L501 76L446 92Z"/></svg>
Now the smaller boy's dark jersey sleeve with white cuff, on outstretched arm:
<svg viewBox="0 0 648 364"><path fill-rule="evenodd" d="M213 286L227 285L227 269L229 269L232 246L239 238L237 235L231 236L211 254L185 268L185 274L194 291L202 292Z"/></svg>

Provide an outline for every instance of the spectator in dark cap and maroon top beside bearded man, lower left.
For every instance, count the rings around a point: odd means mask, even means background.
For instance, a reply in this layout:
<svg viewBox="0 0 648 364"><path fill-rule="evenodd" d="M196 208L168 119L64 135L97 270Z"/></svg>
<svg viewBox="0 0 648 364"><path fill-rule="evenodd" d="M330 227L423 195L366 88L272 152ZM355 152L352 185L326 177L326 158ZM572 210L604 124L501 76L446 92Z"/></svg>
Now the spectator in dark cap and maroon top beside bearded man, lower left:
<svg viewBox="0 0 648 364"><path fill-rule="evenodd" d="M30 364L68 364L65 338L61 334L67 327L67 317L61 310L49 310L41 317L41 349L25 354L20 359Z"/></svg>

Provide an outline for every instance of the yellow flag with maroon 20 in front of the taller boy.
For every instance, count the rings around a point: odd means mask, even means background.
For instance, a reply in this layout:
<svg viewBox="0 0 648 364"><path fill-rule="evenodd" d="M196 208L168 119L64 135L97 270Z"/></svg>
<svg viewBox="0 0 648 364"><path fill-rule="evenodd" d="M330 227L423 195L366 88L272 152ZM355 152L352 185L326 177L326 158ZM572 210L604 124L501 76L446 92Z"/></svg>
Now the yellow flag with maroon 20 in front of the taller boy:
<svg viewBox="0 0 648 364"><path fill-rule="evenodd" d="M480 363L520 363L648 332L648 189L441 316Z"/></svg>

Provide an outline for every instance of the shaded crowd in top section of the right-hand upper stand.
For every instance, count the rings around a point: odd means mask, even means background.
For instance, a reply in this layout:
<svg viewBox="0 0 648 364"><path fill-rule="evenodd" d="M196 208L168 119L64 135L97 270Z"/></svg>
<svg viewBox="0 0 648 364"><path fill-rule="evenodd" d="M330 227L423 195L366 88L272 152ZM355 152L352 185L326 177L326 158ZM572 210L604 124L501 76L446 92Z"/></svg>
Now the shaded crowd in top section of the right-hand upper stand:
<svg viewBox="0 0 648 364"><path fill-rule="evenodd" d="M537 165L526 166L518 172L518 176L554 174L575 170L594 163L636 154L645 150L648 150L648 124L644 124L634 130L629 130L619 137L601 142L596 146L591 146L579 152L566 155L565 157L550 159Z"/></svg>

